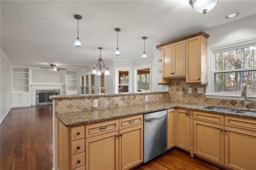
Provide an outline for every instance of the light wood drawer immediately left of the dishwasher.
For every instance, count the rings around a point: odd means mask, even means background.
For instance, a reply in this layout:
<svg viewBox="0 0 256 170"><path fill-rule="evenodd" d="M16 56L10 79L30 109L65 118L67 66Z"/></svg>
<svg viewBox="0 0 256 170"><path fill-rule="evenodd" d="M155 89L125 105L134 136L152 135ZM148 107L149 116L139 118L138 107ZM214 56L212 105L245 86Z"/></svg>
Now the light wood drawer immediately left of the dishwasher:
<svg viewBox="0 0 256 170"><path fill-rule="evenodd" d="M132 127L143 123L143 115L136 115L131 117L124 117L119 119L119 128Z"/></svg>

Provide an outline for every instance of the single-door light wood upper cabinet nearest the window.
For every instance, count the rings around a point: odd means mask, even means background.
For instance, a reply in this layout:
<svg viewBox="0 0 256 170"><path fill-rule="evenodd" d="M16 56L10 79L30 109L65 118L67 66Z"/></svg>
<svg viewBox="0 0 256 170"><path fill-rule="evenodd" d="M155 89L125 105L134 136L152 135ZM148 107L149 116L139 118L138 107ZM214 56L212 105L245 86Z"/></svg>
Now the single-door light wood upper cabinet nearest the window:
<svg viewBox="0 0 256 170"><path fill-rule="evenodd" d="M207 83L207 38L186 40L186 83Z"/></svg>

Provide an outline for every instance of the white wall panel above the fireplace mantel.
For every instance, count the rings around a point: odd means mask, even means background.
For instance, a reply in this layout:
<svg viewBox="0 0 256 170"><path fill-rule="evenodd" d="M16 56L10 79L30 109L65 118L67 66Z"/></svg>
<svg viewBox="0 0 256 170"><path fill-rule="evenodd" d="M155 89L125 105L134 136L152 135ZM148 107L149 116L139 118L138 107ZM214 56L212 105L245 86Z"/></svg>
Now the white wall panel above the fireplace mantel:
<svg viewBox="0 0 256 170"><path fill-rule="evenodd" d="M49 71L32 69L32 81L31 83L65 83L63 74L65 71Z"/></svg>

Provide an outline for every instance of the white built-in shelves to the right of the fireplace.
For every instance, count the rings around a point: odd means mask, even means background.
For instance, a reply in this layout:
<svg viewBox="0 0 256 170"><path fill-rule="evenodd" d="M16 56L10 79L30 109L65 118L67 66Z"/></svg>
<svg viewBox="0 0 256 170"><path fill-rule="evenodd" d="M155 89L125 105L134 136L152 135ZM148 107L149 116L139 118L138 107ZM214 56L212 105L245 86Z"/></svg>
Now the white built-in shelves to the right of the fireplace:
<svg viewBox="0 0 256 170"><path fill-rule="evenodd" d="M77 71L66 71L66 95L77 95Z"/></svg>

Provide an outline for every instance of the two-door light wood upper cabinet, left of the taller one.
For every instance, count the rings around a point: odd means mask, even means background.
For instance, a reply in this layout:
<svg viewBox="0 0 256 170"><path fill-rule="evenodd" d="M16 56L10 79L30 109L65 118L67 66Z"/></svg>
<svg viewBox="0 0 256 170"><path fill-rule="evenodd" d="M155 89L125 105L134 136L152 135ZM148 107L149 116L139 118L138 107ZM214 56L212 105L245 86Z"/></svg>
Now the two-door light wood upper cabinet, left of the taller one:
<svg viewBox="0 0 256 170"><path fill-rule="evenodd" d="M162 77L184 77L185 41L162 47Z"/></svg>

